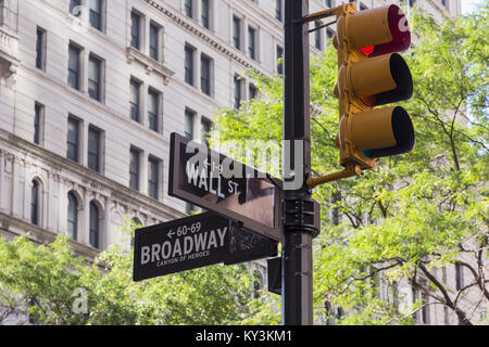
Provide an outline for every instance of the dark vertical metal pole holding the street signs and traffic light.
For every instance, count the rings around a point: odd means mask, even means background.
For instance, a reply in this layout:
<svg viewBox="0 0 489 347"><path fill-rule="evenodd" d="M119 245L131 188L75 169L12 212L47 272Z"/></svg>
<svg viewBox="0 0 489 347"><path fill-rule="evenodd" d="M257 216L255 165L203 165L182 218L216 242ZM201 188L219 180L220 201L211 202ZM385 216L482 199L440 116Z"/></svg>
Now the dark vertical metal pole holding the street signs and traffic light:
<svg viewBox="0 0 489 347"><path fill-rule="evenodd" d="M303 17L309 13L309 0L286 0L284 54L284 140L290 141L290 155L296 177L311 174L309 27ZM294 140L303 141L302 158L294 155ZM303 159L303 160L302 160ZM302 176L300 176L302 170ZM298 175L299 174L299 175ZM284 171L284 180L287 181ZM308 206L312 203L305 184L298 190L285 190L281 254L283 323L313 324L312 239ZM309 208L310 209L310 208ZM314 209L314 208L313 208ZM313 218L314 219L314 218ZM308 222L309 221L309 222ZM312 224L316 224L313 222Z"/></svg>

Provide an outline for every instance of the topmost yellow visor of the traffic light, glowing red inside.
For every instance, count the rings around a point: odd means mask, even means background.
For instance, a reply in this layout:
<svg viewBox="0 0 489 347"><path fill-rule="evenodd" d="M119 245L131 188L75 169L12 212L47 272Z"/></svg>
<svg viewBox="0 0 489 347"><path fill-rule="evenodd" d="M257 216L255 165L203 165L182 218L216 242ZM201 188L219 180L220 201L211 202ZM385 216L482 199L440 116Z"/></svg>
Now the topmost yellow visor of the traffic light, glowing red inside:
<svg viewBox="0 0 489 347"><path fill-rule="evenodd" d="M355 12L347 25L352 43L364 56L402 52L411 46L408 18L396 4Z"/></svg>

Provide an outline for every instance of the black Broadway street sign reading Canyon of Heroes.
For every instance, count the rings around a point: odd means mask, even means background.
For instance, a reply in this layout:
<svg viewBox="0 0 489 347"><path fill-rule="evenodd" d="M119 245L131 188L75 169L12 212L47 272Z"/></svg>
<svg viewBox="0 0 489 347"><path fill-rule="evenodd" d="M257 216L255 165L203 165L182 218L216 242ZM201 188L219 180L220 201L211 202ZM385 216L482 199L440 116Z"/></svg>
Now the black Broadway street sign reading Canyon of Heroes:
<svg viewBox="0 0 489 347"><path fill-rule="evenodd" d="M133 278L141 281L220 262L272 257L277 245L213 213L195 215L136 230Z"/></svg>

